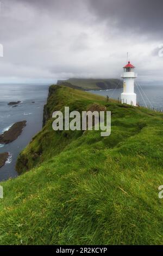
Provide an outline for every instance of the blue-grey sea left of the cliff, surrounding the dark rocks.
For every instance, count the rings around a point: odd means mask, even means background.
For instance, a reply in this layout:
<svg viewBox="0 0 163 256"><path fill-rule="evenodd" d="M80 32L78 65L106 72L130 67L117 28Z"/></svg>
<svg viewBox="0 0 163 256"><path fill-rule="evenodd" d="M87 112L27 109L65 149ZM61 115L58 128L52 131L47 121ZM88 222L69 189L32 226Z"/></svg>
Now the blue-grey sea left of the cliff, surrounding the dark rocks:
<svg viewBox="0 0 163 256"><path fill-rule="evenodd" d="M0 153L9 152L5 166L0 168L0 181L14 178L18 154L42 128L43 106L47 101L48 87L44 85L1 85L0 84L0 133L7 131L17 121L27 120L21 135L9 144L0 144ZM10 101L21 101L17 107L9 106ZM35 103L32 103L35 102Z"/></svg>

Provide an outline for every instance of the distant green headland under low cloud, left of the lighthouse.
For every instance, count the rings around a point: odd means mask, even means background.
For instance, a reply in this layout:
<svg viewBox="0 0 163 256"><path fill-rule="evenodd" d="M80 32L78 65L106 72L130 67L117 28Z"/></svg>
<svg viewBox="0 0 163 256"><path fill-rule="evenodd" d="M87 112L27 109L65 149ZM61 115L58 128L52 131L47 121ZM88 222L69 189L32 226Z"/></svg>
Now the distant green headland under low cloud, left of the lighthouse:
<svg viewBox="0 0 163 256"><path fill-rule="evenodd" d="M69 78L67 80L58 80L58 85L71 87L80 90L107 90L122 88L123 82L120 79L93 79L93 78Z"/></svg>

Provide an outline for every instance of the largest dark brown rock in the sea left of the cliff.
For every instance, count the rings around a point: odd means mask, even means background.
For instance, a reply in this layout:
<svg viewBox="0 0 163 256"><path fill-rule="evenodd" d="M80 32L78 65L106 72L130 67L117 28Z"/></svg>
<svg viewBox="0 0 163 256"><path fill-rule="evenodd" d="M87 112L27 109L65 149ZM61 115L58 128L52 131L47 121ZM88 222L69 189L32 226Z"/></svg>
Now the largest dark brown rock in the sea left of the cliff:
<svg viewBox="0 0 163 256"><path fill-rule="evenodd" d="M8 131L5 131L0 135L0 143L8 144L12 141L15 141L18 136L21 135L23 127L26 126L27 121L20 121L13 124Z"/></svg>

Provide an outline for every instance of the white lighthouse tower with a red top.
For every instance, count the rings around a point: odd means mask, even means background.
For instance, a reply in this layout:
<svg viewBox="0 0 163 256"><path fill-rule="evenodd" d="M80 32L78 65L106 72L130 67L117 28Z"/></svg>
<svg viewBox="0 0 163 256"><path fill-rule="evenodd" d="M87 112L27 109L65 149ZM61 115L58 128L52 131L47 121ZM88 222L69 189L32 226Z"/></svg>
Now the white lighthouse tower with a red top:
<svg viewBox="0 0 163 256"><path fill-rule="evenodd" d="M134 93L134 80L137 77L135 74L135 66L130 62L123 67L123 93L121 94L121 102L136 106L136 93Z"/></svg>

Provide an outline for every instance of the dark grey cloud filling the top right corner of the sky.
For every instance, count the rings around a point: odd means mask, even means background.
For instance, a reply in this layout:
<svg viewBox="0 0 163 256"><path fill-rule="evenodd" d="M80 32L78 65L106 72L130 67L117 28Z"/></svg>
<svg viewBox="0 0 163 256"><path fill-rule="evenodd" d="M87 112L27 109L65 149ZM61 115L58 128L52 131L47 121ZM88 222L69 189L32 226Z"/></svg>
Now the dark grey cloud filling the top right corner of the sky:
<svg viewBox="0 0 163 256"><path fill-rule="evenodd" d="M98 21L108 21L120 33L143 33L162 37L162 0L89 0Z"/></svg>

